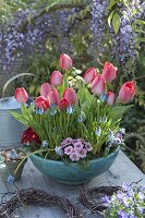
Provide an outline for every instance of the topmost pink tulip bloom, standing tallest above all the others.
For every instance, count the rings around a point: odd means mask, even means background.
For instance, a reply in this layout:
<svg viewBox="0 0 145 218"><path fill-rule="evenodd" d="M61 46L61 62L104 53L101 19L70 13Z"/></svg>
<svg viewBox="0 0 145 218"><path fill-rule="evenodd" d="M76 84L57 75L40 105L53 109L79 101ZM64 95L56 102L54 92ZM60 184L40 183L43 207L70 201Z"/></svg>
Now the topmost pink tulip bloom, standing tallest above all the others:
<svg viewBox="0 0 145 218"><path fill-rule="evenodd" d="M59 64L62 70L70 70L72 68L72 59L68 55L62 53L59 59Z"/></svg>

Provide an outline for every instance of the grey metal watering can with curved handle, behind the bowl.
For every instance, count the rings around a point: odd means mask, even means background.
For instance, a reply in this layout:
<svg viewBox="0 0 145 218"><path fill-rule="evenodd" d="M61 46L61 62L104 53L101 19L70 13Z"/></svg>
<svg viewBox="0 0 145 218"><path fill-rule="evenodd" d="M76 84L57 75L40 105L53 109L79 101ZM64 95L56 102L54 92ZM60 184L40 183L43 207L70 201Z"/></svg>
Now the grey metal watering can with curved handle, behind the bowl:
<svg viewBox="0 0 145 218"><path fill-rule="evenodd" d="M0 99L0 149L16 148L21 146L21 135L25 130L25 126L10 114L10 111L21 112L21 104L15 100L14 96L4 97L4 92L10 82L23 75L34 74L17 74L10 78L3 86L3 97Z"/></svg>

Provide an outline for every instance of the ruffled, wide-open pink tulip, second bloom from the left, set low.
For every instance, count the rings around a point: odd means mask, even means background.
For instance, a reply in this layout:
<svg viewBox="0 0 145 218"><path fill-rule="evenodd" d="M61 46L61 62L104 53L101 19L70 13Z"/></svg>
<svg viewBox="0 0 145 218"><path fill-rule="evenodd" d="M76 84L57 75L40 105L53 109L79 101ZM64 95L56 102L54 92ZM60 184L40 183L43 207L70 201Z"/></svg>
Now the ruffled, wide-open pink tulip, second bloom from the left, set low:
<svg viewBox="0 0 145 218"><path fill-rule="evenodd" d="M34 102L36 108L43 108L44 111L50 107L50 99L45 98L44 96L37 97Z"/></svg>

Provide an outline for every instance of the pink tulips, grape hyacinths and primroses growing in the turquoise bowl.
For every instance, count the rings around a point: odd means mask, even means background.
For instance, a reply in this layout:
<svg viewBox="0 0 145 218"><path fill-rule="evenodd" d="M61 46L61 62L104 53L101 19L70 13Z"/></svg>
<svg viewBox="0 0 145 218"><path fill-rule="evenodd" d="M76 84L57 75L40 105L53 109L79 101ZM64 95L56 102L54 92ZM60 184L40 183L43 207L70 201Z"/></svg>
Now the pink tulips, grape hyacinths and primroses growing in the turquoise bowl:
<svg viewBox="0 0 145 218"><path fill-rule="evenodd" d="M107 156L123 142L120 120L131 107L124 104L133 99L135 83L124 83L118 95L108 90L117 68L105 62L102 73L89 68L75 80L74 87L68 80L72 59L63 53L59 64L62 72L52 72L49 82L40 86L40 96L28 97L23 87L15 90L22 113L12 114L28 126L22 144L50 159L78 161Z"/></svg>

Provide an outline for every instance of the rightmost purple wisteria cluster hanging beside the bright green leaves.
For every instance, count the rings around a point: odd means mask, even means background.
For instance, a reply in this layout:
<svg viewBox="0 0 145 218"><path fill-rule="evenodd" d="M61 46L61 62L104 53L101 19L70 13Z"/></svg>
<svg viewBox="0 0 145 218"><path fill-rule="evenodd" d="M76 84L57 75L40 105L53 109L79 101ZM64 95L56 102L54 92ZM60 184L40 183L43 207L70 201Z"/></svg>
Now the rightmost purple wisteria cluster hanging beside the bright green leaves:
<svg viewBox="0 0 145 218"><path fill-rule="evenodd" d="M144 3L138 0L132 0L130 7L122 7L121 24L118 34L110 28L111 36L111 55L120 64L125 64L128 60L137 58L136 38L137 34L133 29L132 24L135 20L142 19L144 13ZM134 15L134 11L137 11Z"/></svg>

